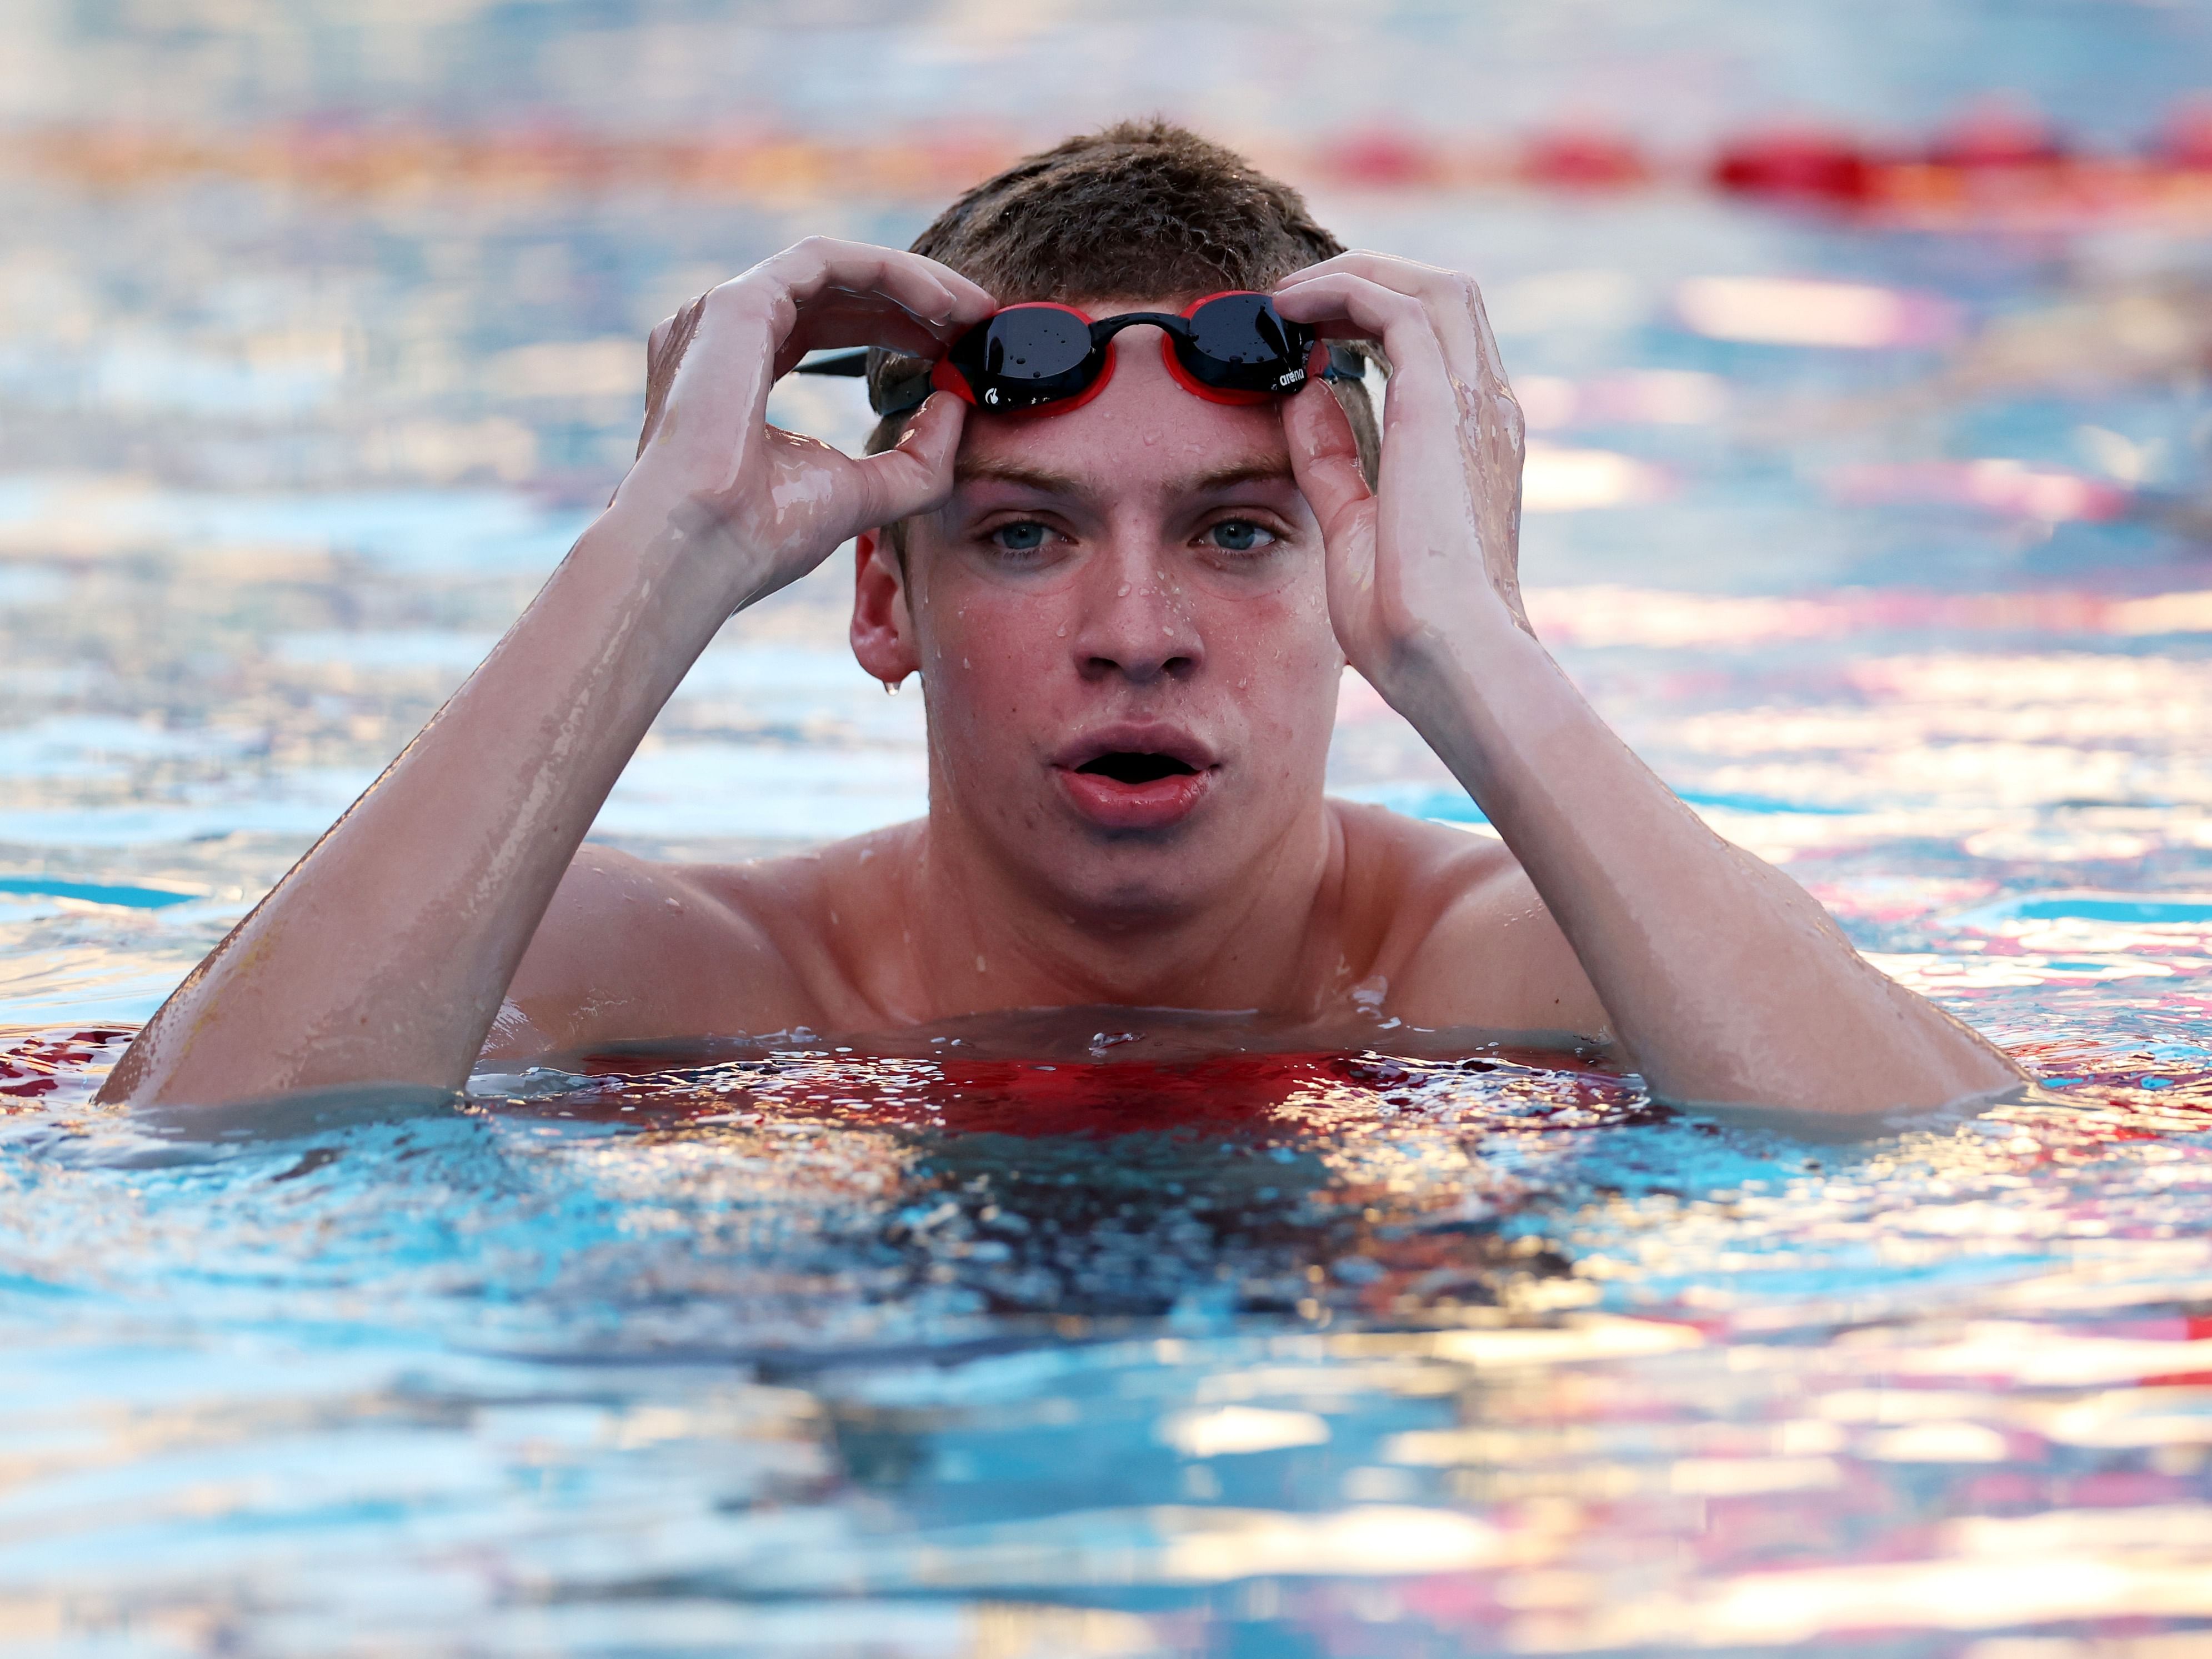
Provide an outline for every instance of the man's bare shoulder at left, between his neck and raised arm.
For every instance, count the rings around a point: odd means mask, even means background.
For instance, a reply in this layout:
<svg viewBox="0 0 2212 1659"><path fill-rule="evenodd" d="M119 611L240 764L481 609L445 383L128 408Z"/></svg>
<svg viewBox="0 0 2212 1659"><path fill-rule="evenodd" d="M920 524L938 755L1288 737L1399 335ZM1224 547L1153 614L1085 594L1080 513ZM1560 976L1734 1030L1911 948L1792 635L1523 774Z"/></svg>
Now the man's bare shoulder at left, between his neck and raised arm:
<svg viewBox="0 0 2212 1659"><path fill-rule="evenodd" d="M854 1020L838 894L876 836L741 865L584 845L515 971L487 1055Z"/></svg>

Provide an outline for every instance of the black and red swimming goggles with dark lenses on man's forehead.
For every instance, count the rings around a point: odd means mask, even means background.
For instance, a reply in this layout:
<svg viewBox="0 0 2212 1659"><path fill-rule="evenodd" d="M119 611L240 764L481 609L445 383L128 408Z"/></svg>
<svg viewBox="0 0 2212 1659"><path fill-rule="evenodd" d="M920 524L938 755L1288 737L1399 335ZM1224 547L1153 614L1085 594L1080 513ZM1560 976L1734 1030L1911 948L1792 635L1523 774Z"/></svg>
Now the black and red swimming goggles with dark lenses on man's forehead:
<svg viewBox="0 0 2212 1659"><path fill-rule="evenodd" d="M1091 403L1113 378L1113 336L1148 323L1161 332L1168 374L1208 403L1265 403L1307 380L1316 334L1292 323L1265 294L1208 294L1179 316L1124 312L1093 321L1073 305L1031 301L984 319L936 363L885 352L891 372L869 385L878 416L918 409L931 392L951 392L993 414L1053 416ZM869 352L838 352L801 363L799 374L867 374ZM1323 380L1358 380L1365 361L1329 347Z"/></svg>

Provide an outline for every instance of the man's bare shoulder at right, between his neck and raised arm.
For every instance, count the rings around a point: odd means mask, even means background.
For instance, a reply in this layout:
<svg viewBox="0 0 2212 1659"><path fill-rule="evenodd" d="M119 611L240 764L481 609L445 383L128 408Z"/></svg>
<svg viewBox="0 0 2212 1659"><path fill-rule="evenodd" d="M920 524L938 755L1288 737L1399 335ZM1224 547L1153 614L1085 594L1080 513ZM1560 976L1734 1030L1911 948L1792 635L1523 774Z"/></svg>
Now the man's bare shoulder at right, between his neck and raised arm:
<svg viewBox="0 0 2212 1659"><path fill-rule="evenodd" d="M1374 947L1387 1013L1422 1026L1610 1031L1575 947L1502 841L1334 805L1358 902L1389 918Z"/></svg>

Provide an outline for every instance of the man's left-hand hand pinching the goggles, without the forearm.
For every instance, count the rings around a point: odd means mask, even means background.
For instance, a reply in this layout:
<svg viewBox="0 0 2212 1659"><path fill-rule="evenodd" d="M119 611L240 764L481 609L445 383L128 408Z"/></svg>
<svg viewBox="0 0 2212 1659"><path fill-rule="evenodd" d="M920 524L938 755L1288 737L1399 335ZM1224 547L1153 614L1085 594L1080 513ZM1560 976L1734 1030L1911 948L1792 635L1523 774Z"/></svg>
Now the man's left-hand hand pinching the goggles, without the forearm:
<svg viewBox="0 0 2212 1659"><path fill-rule="evenodd" d="M617 507L666 515L719 560L732 611L796 582L849 535L945 500L962 407L931 398L896 449L854 460L768 425L770 387L816 347L940 356L993 310L920 254L827 237L785 248L653 330L646 422Z"/></svg>

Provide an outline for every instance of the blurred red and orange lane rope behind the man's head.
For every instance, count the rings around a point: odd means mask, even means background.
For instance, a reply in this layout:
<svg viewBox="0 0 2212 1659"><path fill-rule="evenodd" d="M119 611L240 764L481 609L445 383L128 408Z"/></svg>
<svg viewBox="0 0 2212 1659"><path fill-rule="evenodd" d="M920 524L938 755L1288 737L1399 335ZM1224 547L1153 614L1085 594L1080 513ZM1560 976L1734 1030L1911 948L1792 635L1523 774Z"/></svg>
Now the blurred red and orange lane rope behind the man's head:
<svg viewBox="0 0 2212 1659"><path fill-rule="evenodd" d="M557 122L445 128L422 122L288 122L252 131L131 124L51 126L0 137L0 166L93 190L239 177L338 197L431 190L555 195L664 188L810 204L936 201L1031 148L1037 135L967 128L838 142L721 131L655 137ZM1927 144L1834 128L1739 133L1701 159L1663 159L1613 128L1546 126L1520 139L1356 128L1312 144L1256 135L1259 159L1347 190L1632 190L1697 181L1750 201L1814 206L1931 230L2064 228L2110 217L2212 223L2212 102L2177 104L2135 155L2081 153L2035 111L1982 102Z"/></svg>

